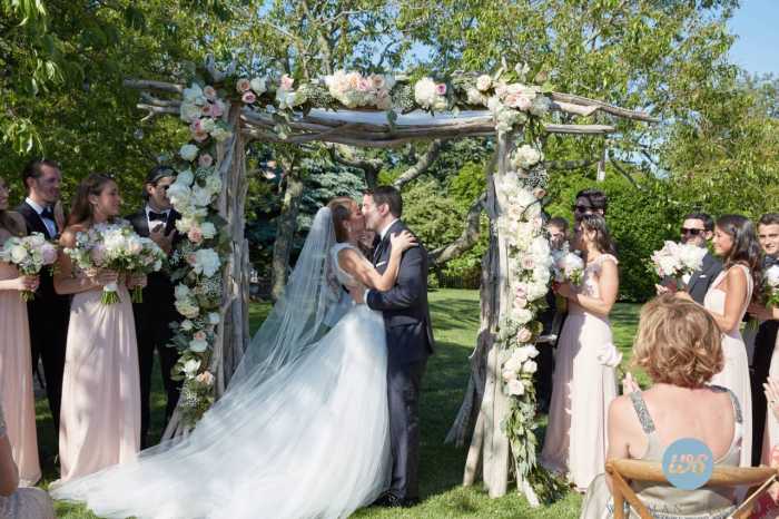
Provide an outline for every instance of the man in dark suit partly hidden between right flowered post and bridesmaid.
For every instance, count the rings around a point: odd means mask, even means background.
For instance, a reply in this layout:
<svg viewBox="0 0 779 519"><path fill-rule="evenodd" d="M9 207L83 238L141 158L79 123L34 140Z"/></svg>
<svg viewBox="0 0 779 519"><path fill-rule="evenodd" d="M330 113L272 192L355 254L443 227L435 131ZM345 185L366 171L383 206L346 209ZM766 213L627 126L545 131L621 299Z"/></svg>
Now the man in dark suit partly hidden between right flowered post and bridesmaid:
<svg viewBox="0 0 779 519"><path fill-rule="evenodd" d="M568 242L568 221L560 216L551 218L546 223L546 232L552 249L560 251ZM558 309L558 300L551 290L546 293L546 310L539 315L539 320L544 327L536 343L539 346L539 372L535 376L535 394L538 395L539 411L545 413L552 401L553 349L558 346L558 337L565 321L565 311Z"/></svg>

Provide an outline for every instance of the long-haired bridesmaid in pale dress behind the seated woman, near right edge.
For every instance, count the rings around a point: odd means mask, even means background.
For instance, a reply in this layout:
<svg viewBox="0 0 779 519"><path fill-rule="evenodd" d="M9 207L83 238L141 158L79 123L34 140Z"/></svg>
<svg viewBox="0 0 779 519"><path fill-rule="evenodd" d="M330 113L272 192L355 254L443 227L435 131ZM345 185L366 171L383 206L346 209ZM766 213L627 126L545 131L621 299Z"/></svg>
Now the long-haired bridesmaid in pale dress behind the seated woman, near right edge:
<svg viewBox="0 0 779 519"><path fill-rule="evenodd" d="M729 389L736 394L741 409L752 409L752 390L749 382L749 358L739 325L752 298L752 288L759 285L761 251L752 223L740 215L726 215L714 224L712 239L714 254L722 258L722 272L709 286L703 307L714 317L722 332L724 369L711 383ZM677 297L690 300L687 292ZM758 445L759 448L760 445ZM741 467L752 464L752 413L743 415Z"/></svg>

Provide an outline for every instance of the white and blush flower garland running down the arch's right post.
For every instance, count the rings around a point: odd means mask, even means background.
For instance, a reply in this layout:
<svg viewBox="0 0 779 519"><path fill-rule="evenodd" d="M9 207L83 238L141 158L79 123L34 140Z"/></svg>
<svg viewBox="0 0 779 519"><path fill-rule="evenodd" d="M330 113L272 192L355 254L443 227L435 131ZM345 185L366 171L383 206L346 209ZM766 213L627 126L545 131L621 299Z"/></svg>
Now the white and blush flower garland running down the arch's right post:
<svg viewBox="0 0 779 519"><path fill-rule="evenodd" d="M539 497L550 500L564 486L536 464L536 396L533 379L538 371L535 340L543 325L539 312L546 307L553 257L541 214L545 190L538 176L527 170L542 169L543 154L529 145L517 147L510 157L511 169L496 175L496 188L509 200L497 217L497 231L506 239L509 287L513 296L499 323L496 342L501 347L503 391L510 410L503 420L517 478L527 481Z"/></svg>

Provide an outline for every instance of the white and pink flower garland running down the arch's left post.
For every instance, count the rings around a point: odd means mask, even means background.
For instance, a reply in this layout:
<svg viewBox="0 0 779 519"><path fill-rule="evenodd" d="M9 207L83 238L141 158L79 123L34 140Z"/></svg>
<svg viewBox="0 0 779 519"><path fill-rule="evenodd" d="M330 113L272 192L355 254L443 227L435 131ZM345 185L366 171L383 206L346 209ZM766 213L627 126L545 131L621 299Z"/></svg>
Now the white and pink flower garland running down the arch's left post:
<svg viewBox="0 0 779 519"><path fill-rule="evenodd" d="M226 115L227 104L215 87L193 84L184 90L180 117L189 124L191 140L178 151L178 174L168 187L168 197L181 215L176 229L183 239L171 255L171 278L177 282L176 310L184 320L171 324L171 342L180 353L174 378L184 381L179 412L187 425L194 425L214 402L208 360L220 322L225 264L225 245L219 236L224 222L215 208L221 193L215 143L233 135Z"/></svg>

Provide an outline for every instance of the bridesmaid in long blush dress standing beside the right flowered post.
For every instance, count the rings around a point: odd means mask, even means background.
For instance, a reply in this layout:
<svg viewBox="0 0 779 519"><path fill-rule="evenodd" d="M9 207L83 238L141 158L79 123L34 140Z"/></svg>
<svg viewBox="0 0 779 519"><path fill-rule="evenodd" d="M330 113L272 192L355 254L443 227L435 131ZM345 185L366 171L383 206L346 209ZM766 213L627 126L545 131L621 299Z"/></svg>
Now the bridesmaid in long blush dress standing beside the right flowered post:
<svg viewBox="0 0 779 519"><path fill-rule="evenodd" d="M568 298L569 313L558 343L549 427L541 462L568 474L580 492L603 472L605 419L617 396L614 347L609 312L617 300L619 274L614 246L601 215L583 215L573 245L585 262L581 286L553 288Z"/></svg>

